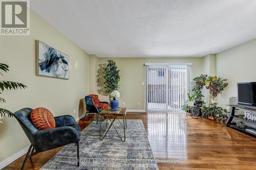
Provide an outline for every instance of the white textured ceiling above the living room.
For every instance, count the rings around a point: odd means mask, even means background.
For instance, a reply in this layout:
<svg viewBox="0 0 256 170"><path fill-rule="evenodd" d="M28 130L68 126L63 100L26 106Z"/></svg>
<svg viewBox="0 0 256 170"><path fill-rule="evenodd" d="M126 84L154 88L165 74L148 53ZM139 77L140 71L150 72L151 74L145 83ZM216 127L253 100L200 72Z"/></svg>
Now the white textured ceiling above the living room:
<svg viewBox="0 0 256 170"><path fill-rule="evenodd" d="M202 57L256 38L252 0L32 0L98 57Z"/></svg>

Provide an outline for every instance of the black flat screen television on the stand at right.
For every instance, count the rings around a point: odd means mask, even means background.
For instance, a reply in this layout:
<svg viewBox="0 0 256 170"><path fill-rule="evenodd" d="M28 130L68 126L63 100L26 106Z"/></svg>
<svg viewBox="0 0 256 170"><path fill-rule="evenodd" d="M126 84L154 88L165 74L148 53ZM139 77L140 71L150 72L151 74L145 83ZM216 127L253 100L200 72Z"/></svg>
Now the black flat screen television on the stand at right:
<svg viewBox="0 0 256 170"><path fill-rule="evenodd" d="M256 106L256 82L238 83L238 104Z"/></svg>

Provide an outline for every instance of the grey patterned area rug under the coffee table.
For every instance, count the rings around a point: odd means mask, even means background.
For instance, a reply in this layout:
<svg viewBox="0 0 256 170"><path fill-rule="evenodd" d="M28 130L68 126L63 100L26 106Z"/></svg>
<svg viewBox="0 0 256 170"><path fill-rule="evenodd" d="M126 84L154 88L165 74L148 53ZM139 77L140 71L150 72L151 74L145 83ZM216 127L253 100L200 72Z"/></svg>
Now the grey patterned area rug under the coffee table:
<svg viewBox="0 0 256 170"><path fill-rule="evenodd" d="M105 130L106 122L102 122L102 125L102 130ZM114 125L119 130L119 134L123 135L118 120ZM96 125L96 122L92 122L82 131L79 142L79 167L76 166L76 146L75 144L69 144L42 166L40 170L158 169L142 120L127 120L125 134L126 139L122 142L115 129L111 127L110 132L101 141L99 140L99 124Z"/></svg>

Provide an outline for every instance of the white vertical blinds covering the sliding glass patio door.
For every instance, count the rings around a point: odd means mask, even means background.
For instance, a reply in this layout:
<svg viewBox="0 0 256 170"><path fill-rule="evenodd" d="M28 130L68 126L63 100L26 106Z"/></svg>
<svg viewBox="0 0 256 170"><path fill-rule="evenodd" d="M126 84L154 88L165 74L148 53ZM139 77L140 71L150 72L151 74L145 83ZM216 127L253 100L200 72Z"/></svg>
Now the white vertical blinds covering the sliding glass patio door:
<svg viewBox="0 0 256 170"><path fill-rule="evenodd" d="M186 65L147 66L147 111L180 112L186 101Z"/></svg>

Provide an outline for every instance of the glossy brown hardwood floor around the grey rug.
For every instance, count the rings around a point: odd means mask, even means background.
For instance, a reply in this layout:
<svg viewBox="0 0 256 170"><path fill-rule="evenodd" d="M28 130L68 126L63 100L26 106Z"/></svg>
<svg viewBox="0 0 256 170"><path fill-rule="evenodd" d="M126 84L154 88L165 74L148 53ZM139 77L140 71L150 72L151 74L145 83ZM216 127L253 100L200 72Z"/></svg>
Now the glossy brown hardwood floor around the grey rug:
<svg viewBox="0 0 256 170"><path fill-rule="evenodd" d="M127 113L127 119L142 119L157 159L179 161L158 163L159 169L256 169L256 138L224 124L182 113ZM79 120L81 129L93 120L94 115L86 118L85 125ZM25 169L39 169L60 149L35 155ZM19 169L24 157L4 169Z"/></svg>

